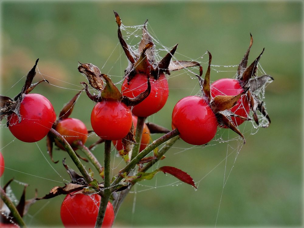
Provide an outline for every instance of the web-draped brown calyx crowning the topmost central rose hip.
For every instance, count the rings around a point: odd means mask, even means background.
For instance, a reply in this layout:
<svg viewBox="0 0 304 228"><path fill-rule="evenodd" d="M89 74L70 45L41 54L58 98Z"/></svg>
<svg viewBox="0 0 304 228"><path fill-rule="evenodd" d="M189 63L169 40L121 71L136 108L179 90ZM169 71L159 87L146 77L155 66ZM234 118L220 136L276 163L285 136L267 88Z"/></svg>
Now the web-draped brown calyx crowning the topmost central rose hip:
<svg viewBox="0 0 304 228"><path fill-rule="evenodd" d="M178 71L187 67L199 67L200 75L202 75L202 66L199 62L196 61L184 61L184 60L175 60L172 61L172 57L176 51L178 44L176 44L172 50L168 52L164 56L162 60L158 63L155 61L155 47L153 43L153 38L150 36L147 31L147 20L143 25L142 29L142 38L139 43L137 50L132 50L123 39L121 33L121 19L117 12L114 12L116 23L118 26L118 39L119 42L126 54L127 59L129 60L129 65L125 70L125 78L127 78L127 82L129 83L136 73L146 73L151 74L153 79L158 79L160 74L165 73L170 75L170 71ZM145 49L146 45L152 43L153 46L149 45L148 48ZM143 58L143 54L145 55L146 61L141 61Z"/></svg>

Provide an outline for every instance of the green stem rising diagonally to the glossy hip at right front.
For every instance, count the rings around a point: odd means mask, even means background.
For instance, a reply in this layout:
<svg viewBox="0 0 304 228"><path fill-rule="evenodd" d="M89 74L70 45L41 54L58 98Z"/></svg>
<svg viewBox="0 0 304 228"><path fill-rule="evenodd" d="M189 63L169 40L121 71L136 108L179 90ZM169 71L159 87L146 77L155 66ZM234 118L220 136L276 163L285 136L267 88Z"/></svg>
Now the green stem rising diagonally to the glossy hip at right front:
<svg viewBox="0 0 304 228"><path fill-rule="evenodd" d="M156 147L161 145L162 143L168 141L169 139L173 138L174 136L177 136L179 134L178 130L175 129L164 136L158 138L157 140L154 140L149 146L146 147L143 151L141 151L136 157L134 157L122 170L119 171L118 177L113 181L112 187L115 188L115 185L119 183L124 178L124 174L128 174L135 166L138 164L138 162L146 157L152 150L154 150Z"/></svg>

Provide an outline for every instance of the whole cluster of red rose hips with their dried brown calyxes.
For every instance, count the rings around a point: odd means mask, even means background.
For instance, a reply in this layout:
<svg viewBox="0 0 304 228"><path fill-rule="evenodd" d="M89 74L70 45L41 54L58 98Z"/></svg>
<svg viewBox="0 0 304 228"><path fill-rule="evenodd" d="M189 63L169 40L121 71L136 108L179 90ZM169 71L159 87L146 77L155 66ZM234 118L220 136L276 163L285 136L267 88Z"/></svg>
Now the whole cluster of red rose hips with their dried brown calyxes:
<svg viewBox="0 0 304 228"><path fill-rule="evenodd" d="M89 84L98 91L97 95L92 95L88 85L85 82L81 83L88 97L97 102L91 113L91 126L101 141L112 140L117 150L125 150L128 143L134 142L136 127L140 127L141 129L138 130L140 132L139 152L144 150L150 142L150 130L144 121L148 116L158 112L168 98L166 74L185 67L199 67L199 74L196 76L201 86L201 94L182 98L174 106L172 129L178 131L182 140L193 145L206 144L216 135L218 126L230 128L244 139L237 126L245 120L251 120L250 110L257 124L259 124L257 118L257 110L259 110L268 120L269 125L270 119L263 103L254 92L272 78L268 75L257 78L255 75L262 53L247 67L252 37L250 46L239 64L237 78L219 79L210 85L212 57L209 52L209 64L204 79L201 78L202 67L198 62L171 60L177 45L157 63L154 56L154 43L147 32L146 24L143 26L142 40L138 50L133 51L123 39L120 30L121 20L117 13L115 17L119 41L129 60L121 92L107 75L100 72L98 67L92 64L78 66L79 72L85 75ZM1 96L1 119L7 116L9 130L21 141L36 142L47 136L50 155L53 143L65 150L63 144L49 133L51 129L64 136L72 149L77 150L79 143L85 144L88 130L81 120L69 116L82 91L64 106L59 117L56 118L54 108L47 98L40 94L30 93L36 85L44 81L32 84L37 62L38 60L29 71L22 91L15 98ZM137 122L143 124L137 124ZM126 155L123 152L122 154ZM51 159L53 160L52 157ZM1 175L3 169L4 161L0 154ZM68 192L61 206L60 215L64 226L94 226L100 195L74 194L75 192L77 191ZM112 226L113 221L113 207L109 202L102 227Z"/></svg>

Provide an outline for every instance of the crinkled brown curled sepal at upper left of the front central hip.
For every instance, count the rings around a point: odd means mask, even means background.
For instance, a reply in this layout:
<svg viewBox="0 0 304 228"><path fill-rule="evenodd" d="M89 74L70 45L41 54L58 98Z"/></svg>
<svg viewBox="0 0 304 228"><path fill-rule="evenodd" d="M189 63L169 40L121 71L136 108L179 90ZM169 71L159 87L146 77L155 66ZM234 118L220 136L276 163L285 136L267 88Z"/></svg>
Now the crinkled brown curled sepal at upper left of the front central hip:
<svg viewBox="0 0 304 228"><path fill-rule="evenodd" d="M88 81L93 88L102 91L104 85L99 68L91 63L79 64L78 71L88 78Z"/></svg>

